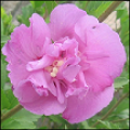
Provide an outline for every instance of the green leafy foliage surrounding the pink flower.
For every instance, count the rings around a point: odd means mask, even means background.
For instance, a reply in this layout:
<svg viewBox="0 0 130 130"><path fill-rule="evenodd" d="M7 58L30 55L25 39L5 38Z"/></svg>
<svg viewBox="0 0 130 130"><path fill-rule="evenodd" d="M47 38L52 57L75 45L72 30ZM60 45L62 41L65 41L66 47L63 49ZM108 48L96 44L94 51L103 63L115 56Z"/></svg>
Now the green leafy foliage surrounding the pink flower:
<svg viewBox="0 0 130 130"><path fill-rule="evenodd" d="M30 1L29 4L22 9L22 14L17 15L17 21L29 26L28 18L34 12L39 13L49 23L49 15L51 11L60 3L67 1ZM113 1L75 1L75 4L88 14L99 17L107 10ZM92 118L77 125L70 125L62 118L61 115L38 116L26 109L22 109L12 117L8 118L1 123L2 129L129 129L129 99L126 98L120 104L110 113L110 115L101 120L102 117L119 101L119 99L129 92L129 14L121 2L115 10L117 12L116 20L120 21L120 28L117 31L121 38L127 52L127 63L120 77L115 79L115 98L110 104ZM6 14L1 6L1 48L10 39L10 35L15 28L12 23L12 15ZM11 82L8 77L5 56L1 53L1 115L9 112L18 104L17 99L13 95L11 90ZM118 57L117 57L118 58ZM99 125L92 127L93 123L100 121Z"/></svg>

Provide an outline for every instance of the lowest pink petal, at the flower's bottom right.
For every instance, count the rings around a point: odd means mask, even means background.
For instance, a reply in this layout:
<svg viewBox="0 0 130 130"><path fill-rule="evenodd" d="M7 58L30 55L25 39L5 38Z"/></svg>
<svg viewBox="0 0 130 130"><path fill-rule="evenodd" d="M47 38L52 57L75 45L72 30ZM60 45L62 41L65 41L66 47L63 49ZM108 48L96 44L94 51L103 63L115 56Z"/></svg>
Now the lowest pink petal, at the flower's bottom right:
<svg viewBox="0 0 130 130"><path fill-rule="evenodd" d="M67 119L70 123L89 119L106 107L112 101L113 95L114 87L108 87L96 94L89 90L83 99L69 96L67 100L67 107L63 113L63 118Z"/></svg>

